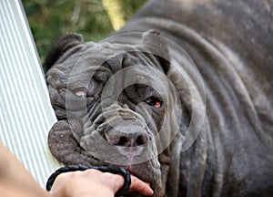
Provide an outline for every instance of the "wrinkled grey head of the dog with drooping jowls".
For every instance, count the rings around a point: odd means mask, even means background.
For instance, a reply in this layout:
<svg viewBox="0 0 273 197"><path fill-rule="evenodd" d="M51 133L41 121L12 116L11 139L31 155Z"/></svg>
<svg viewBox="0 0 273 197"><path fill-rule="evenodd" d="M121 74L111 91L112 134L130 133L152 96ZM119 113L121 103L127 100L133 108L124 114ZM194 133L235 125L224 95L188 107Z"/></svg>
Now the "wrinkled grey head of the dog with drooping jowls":
<svg viewBox="0 0 273 197"><path fill-rule="evenodd" d="M167 60L151 51L160 40L148 33L143 40L138 46L83 43L73 34L56 43L46 59L58 119L48 143L65 164L119 165L162 196L181 107ZM162 43L157 47L167 53Z"/></svg>

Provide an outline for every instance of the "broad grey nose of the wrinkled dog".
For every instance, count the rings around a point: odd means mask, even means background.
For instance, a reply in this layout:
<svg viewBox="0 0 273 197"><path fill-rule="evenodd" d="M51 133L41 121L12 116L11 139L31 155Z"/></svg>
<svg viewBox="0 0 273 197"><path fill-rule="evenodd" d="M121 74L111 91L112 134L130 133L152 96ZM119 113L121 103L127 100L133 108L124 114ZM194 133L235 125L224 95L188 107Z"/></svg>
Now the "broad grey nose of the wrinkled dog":
<svg viewBox="0 0 273 197"><path fill-rule="evenodd" d="M116 146L135 147L147 143L148 136L144 131L121 132L110 130L105 134L106 140Z"/></svg>

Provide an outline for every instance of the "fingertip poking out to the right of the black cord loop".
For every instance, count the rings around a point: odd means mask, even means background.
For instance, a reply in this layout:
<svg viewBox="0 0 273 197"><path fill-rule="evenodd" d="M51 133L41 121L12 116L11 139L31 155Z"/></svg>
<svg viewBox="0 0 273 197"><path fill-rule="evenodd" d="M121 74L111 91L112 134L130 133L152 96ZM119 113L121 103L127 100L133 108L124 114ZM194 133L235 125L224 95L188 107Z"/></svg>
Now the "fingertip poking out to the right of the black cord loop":
<svg viewBox="0 0 273 197"><path fill-rule="evenodd" d="M143 195L152 195L154 193L147 182L141 181L132 175L130 190L140 192Z"/></svg>

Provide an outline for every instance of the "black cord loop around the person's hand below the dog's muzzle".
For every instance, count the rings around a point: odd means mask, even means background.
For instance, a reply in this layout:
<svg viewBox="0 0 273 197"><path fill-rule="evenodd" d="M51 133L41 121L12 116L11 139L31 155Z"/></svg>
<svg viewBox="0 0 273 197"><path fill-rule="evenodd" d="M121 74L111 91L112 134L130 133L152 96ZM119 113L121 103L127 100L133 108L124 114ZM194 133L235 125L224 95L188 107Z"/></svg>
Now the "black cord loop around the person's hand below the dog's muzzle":
<svg viewBox="0 0 273 197"><path fill-rule="evenodd" d="M124 168L119 166L86 166L86 165L68 165L64 166L57 171L55 171L51 176L48 178L46 182L46 190L50 191L51 187L56 180L56 177L61 173L68 172L68 171L86 171L87 169L96 169L102 172L110 172L114 174L120 174L124 178L124 185L120 188L115 196L120 196L124 192L126 192L131 185L131 177L129 171L126 171Z"/></svg>

